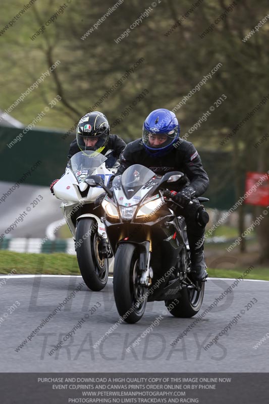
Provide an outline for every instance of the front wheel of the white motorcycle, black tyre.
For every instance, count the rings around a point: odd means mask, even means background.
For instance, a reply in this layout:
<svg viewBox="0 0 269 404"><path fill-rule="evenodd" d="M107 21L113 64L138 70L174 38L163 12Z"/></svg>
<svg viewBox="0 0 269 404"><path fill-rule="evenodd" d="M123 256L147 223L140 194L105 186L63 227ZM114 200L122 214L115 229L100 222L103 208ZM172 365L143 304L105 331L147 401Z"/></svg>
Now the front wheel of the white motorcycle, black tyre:
<svg viewBox="0 0 269 404"><path fill-rule="evenodd" d="M89 289L104 288L109 277L109 260L99 252L98 224L90 218L78 221L76 228L77 260L82 278Z"/></svg>

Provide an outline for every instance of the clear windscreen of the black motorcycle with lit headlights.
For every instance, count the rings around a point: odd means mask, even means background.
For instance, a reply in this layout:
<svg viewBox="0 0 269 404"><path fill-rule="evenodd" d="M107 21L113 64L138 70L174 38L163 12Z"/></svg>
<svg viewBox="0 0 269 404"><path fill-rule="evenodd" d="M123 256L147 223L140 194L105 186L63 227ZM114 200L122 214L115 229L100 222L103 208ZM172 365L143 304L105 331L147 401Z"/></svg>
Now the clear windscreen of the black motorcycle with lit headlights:
<svg viewBox="0 0 269 404"><path fill-rule="evenodd" d="M130 199L142 186L155 176L149 168L134 164L122 174L121 183L124 193Z"/></svg>

